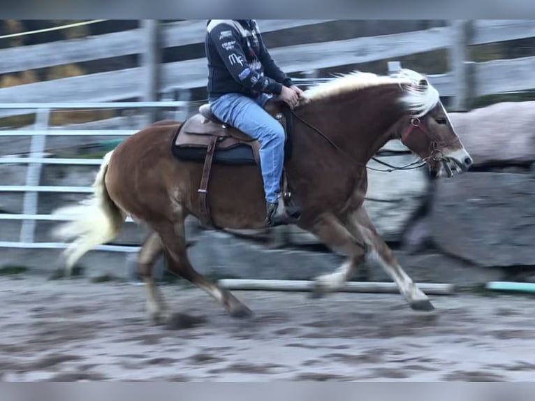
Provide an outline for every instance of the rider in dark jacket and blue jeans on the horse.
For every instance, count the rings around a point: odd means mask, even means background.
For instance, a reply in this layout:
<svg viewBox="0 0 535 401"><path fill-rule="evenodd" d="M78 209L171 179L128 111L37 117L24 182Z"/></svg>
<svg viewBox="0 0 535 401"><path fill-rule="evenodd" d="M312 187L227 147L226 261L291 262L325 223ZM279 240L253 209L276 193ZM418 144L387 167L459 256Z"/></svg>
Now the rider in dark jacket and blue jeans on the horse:
<svg viewBox="0 0 535 401"><path fill-rule="evenodd" d="M212 113L258 140L268 225L286 224L284 128L263 107L276 95L293 109L303 92L274 63L255 20L208 20L205 50Z"/></svg>

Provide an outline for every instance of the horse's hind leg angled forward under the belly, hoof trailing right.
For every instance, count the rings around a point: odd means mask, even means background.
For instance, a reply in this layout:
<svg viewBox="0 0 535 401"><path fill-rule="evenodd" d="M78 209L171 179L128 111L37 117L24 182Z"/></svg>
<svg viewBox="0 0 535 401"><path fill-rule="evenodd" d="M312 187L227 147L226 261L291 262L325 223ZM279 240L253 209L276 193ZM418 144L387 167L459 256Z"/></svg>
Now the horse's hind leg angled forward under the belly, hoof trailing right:
<svg viewBox="0 0 535 401"><path fill-rule="evenodd" d="M166 222L158 227L158 232L167 249L169 270L184 277L191 283L203 289L215 298L233 317L246 317L252 314L251 310L230 291L221 289L217 284L210 282L201 275L189 262L186 253L186 237L184 232L184 219L181 217L175 223Z"/></svg>

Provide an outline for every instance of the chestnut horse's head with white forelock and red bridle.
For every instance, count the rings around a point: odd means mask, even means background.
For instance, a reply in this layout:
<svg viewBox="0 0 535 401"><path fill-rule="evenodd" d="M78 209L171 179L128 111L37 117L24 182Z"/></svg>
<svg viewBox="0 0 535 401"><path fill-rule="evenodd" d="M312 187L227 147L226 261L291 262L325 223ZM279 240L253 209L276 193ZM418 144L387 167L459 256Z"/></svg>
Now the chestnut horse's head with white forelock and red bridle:
<svg viewBox="0 0 535 401"><path fill-rule="evenodd" d="M415 78L417 73L402 71L402 77ZM402 84L402 102L409 110L402 118L397 138L427 162L437 177L453 177L471 166L472 159L448 118L437 89L421 75Z"/></svg>

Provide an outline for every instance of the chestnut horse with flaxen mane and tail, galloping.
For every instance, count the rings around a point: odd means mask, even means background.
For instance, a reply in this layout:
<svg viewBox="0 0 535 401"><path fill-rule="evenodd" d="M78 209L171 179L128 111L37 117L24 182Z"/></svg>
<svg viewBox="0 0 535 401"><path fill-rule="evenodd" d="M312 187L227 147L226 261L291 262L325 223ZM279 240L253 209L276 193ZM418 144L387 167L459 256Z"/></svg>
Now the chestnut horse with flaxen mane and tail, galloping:
<svg viewBox="0 0 535 401"><path fill-rule="evenodd" d="M390 140L401 140L435 177L453 177L469 169L471 156L437 89L425 75L409 69L393 75L356 71L307 89L291 115L292 152L284 175L292 199L301 207L291 224L346 256L339 268L315 277L314 293L341 289L359 265L372 263L388 273L412 309L434 309L374 228L363 202L367 163ZM138 253L138 273L145 284L149 319L160 324L173 316L152 277L162 253L171 272L206 291L230 316L252 314L233 293L197 272L186 254L184 219L200 219L200 197L206 196L198 188L203 163L178 159L170 150L188 119L156 122L126 138L104 156L91 197L56 210L71 216L54 232L65 242L71 240L64 251L67 266L115 238L128 216L151 229ZM215 227L267 226L258 165L214 164L208 195Z"/></svg>

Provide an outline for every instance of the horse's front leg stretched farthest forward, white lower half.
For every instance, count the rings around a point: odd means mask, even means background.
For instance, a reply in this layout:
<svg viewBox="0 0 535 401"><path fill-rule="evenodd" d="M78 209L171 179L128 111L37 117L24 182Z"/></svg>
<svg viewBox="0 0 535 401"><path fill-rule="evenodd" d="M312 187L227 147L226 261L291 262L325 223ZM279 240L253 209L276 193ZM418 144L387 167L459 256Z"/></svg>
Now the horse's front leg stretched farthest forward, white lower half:
<svg viewBox="0 0 535 401"><path fill-rule="evenodd" d="M411 277L404 272L393 254L393 251L386 245L376 228L370 221L364 207L360 207L354 212L346 222L348 230L353 235L361 235L365 240L368 250L365 260L369 264L379 265L394 280L400 293L409 302L412 309L430 311L434 309L429 298L418 289Z"/></svg>

